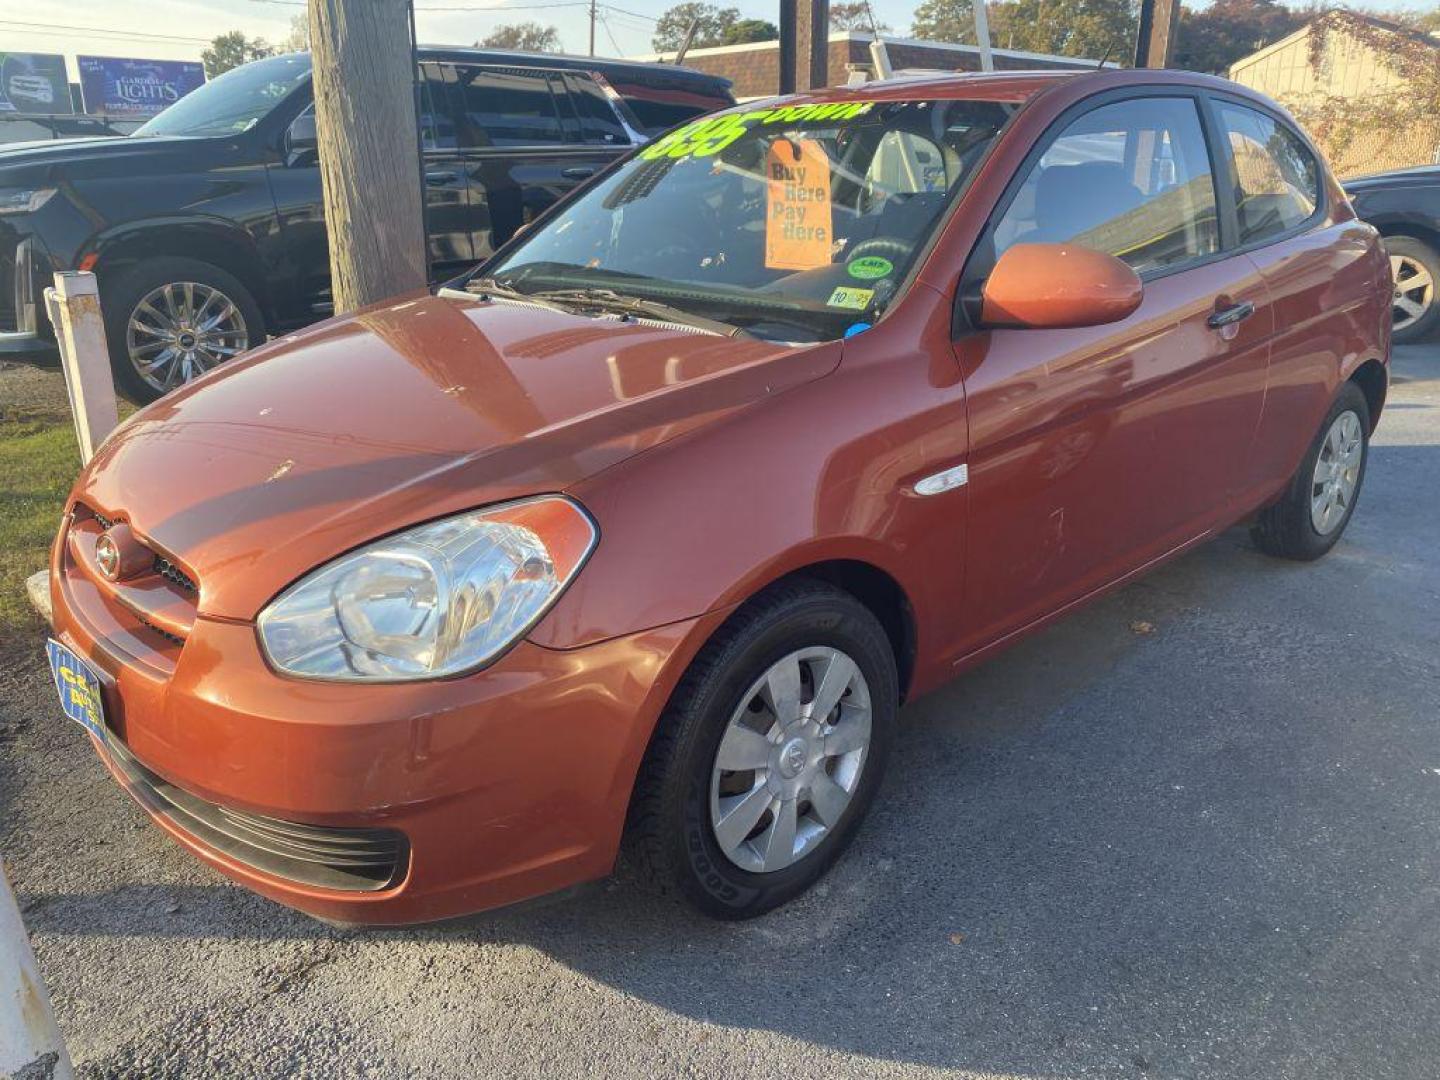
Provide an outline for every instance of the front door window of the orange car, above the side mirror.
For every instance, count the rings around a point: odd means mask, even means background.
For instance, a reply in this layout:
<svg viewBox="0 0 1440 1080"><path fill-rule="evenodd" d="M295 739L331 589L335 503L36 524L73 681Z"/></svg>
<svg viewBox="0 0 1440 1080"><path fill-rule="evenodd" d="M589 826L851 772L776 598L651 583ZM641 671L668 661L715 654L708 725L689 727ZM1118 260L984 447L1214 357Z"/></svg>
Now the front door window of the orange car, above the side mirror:
<svg viewBox="0 0 1440 1080"><path fill-rule="evenodd" d="M1014 243L1077 243L1138 272L1220 249L1215 184L1189 98L1136 98L1073 121L1044 151L995 229Z"/></svg>

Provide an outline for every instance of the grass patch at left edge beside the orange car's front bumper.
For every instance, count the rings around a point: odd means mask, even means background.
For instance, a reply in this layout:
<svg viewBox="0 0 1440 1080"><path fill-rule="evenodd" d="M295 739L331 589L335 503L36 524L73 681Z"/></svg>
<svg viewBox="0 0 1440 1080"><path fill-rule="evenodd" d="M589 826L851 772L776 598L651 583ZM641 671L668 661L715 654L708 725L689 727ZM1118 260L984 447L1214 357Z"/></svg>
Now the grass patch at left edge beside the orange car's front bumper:
<svg viewBox="0 0 1440 1080"><path fill-rule="evenodd" d="M81 471L69 413L7 408L0 415L0 639L43 622L24 579L43 570L65 497Z"/></svg>

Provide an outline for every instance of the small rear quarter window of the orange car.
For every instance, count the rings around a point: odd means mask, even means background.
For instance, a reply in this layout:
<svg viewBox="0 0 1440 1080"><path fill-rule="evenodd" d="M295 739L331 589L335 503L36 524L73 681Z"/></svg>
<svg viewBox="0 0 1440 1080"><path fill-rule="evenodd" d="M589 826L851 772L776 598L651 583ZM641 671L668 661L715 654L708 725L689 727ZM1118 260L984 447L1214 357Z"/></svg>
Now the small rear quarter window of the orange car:
<svg viewBox="0 0 1440 1080"><path fill-rule="evenodd" d="M1320 204L1320 170L1300 138L1273 117L1220 104L1230 143L1240 242L1257 243L1309 220Z"/></svg>

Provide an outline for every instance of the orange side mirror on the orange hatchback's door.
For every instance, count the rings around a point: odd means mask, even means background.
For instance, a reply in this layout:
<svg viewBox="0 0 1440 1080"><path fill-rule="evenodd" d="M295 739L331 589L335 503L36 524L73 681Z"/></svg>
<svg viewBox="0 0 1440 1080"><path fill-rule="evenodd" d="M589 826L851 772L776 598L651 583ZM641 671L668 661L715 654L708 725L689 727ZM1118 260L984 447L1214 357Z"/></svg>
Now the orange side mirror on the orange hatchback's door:
<svg viewBox="0 0 1440 1080"><path fill-rule="evenodd" d="M981 288L981 325L1061 330L1119 323L1145 285L1113 255L1074 243L1017 243Z"/></svg>

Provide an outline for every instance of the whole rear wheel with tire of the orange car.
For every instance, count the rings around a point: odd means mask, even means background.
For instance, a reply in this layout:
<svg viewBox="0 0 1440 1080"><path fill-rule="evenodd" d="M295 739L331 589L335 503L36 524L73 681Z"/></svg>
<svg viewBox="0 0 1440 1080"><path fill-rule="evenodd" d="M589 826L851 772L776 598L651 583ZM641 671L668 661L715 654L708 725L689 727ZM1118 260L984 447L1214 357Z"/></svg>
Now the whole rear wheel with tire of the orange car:
<svg viewBox="0 0 1440 1080"><path fill-rule="evenodd" d="M1345 383L1325 415L1284 495L1260 511L1250 536L1266 554L1319 559L1335 547L1355 513L1369 456L1369 408Z"/></svg>

